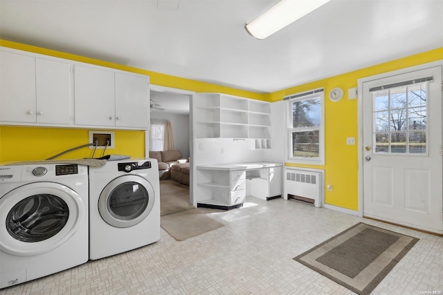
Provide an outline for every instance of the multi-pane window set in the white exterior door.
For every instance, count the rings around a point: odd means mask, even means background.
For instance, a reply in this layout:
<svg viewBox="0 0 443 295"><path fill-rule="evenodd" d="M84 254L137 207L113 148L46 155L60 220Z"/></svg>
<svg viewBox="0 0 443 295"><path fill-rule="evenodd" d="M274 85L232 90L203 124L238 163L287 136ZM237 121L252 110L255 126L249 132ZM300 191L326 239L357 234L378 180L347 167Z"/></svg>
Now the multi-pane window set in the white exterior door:
<svg viewBox="0 0 443 295"><path fill-rule="evenodd" d="M426 82L372 92L375 153L427 154Z"/></svg>

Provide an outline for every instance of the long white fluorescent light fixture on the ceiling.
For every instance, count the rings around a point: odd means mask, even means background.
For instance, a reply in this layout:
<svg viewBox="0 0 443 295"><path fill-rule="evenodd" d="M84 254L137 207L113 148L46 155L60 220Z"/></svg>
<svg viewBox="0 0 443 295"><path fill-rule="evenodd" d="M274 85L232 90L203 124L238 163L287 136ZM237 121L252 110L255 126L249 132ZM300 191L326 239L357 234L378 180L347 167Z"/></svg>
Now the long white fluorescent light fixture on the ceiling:
<svg viewBox="0 0 443 295"><path fill-rule="evenodd" d="M245 28L257 39L265 39L330 0L281 0Z"/></svg>

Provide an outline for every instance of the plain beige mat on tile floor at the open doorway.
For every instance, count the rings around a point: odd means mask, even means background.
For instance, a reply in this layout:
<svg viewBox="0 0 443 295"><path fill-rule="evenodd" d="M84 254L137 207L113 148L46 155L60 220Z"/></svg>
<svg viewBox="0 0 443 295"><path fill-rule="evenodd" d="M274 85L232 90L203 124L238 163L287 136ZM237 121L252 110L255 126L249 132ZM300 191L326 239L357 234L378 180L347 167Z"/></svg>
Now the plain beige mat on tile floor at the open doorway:
<svg viewBox="0 0 443 295"><path fill-rule="evenodd" d="M207 216L211 209L197 208L161 216L161 227L176 240L186 240L213 231L224 224Z"/></svg>

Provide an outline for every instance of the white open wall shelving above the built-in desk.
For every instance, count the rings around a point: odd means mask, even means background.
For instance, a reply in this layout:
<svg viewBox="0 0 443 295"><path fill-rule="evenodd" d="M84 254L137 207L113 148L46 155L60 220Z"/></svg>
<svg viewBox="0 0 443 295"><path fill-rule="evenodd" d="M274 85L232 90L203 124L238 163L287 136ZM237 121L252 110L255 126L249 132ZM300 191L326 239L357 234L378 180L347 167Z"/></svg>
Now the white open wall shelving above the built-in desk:
<svg viewBox="0 0 443 295"><path fill-rule="evenodd" d="M197 138L250 138L257 149L269 149L271 105L221 93L197 93L193 98Z"/></svg>

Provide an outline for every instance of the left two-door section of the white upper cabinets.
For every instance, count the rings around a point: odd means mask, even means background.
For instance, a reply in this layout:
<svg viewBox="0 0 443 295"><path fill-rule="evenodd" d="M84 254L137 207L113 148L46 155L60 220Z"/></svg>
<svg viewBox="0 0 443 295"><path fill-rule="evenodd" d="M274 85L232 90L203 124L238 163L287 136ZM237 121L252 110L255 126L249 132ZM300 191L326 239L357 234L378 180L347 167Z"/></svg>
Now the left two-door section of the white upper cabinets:
<svg viewBox="0 0 443 295"><path fill-rule="evenodd" d="M0 51L0 121L71 123L70 64Z"/></svg>

